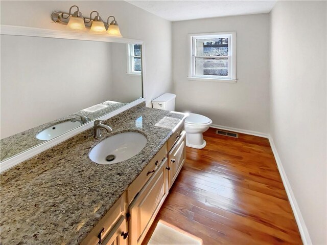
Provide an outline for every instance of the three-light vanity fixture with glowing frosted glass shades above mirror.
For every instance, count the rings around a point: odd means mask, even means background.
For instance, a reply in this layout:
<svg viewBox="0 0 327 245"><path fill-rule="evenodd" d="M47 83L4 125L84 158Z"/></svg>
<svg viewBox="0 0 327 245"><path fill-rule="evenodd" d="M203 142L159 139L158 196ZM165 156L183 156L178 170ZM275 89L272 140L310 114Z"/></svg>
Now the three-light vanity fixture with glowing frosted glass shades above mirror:
<svg viewBox="0 0 327 245"><path fill-rule="evenodd" d="M72 14L72 8L76 7L77 11ZM92 19L92 13L97 13L96 17ZM113 17L113 20L109 24L109 18ZM117 21L114 16L109 16L107 22L102 21L98 11L92 11L89 18L84 18L79 11L77 5L73 5L69 8L69 12L55 11L51 14L51 19L58 24L66 25L67 28L75 31L85 31L86 28L90 28L91 34L107 34L111 37L123 37ZM108 26L108 30L106 27Z"/></svg>

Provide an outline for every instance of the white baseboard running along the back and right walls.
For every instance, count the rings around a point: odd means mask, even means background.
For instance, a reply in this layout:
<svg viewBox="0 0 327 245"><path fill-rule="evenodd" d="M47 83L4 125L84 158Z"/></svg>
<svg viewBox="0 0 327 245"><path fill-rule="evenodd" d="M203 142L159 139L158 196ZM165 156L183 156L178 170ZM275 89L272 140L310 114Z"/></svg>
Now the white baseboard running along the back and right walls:
<svg viewBox="0 0 327 245"><path fill-rule="evenodd" d="M270 147L271 147L271 150L272 150L272 152L274 154L279 174L281 174L283 185L285 187L287 197L289 199L292 211L294 213L295 221L296 221L296 224L298 226L302 242L303 242L303 244L312 244L312 241L311 241L307 226L305 224L305 220L303 219L301 211L300 211L300 209L299 209L299 207L297 205L297 202L296 202L294 193L292 191L290 182L287 179L286 172L284 170L282 161L279 158L279 155L278 155L278 152L277 152L277 149L276 149L276 146L274 144L274 141L273 141L272 137L268 133L245 130L245 129L240 129L240 128L226 127L226 126L222 126L222 125L213 124L211 127L219 128L219 129L225 129L225 130L234 131L234 132L245 133L246 135L264 137L264 138L267 138L269 140Z"/></svg>

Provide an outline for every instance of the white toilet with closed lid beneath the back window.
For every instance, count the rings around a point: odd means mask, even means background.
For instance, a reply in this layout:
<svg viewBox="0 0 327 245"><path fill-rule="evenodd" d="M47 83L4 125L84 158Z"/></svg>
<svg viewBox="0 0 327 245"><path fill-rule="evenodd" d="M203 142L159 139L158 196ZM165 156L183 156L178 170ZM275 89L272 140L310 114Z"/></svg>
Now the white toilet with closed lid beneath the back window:
<svg viewBox="0 0 327 245"><path fill-rule="evenodd" d="M158 98L152 100L152 107L164 110L175 110L174 94L163 94ZM205 147L206 142L203 140L202 133L208 130L213 121L200 114L190 113L185 120L186 131L186 146L202 149Z"/></svg>

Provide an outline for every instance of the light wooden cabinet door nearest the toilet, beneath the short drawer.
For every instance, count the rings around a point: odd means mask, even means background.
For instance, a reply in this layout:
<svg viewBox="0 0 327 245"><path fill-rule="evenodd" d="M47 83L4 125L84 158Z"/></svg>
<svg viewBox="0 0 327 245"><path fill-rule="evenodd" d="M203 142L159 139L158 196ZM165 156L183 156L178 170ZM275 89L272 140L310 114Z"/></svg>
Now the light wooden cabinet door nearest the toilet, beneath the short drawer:
<svg viewBox="0 0 327 245"><path fill-rule="evenodd" d="M169 167L169 189L172 187L180 169L186 160L186 139L185 131L181 133L180 139L168 153Z"/></svg>

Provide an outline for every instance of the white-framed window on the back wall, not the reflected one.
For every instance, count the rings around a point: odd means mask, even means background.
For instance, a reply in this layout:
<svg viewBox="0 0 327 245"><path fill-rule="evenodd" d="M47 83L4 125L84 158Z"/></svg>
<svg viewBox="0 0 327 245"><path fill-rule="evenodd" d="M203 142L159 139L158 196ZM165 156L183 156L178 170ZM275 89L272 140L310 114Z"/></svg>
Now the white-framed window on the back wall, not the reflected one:
<svg viewBox="0 0 327 245"><path fill-rule="evenodd" d="M191 34L191 80L236 82L236 33Z"/></svg>

